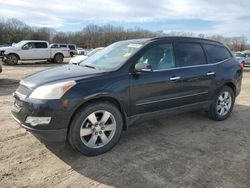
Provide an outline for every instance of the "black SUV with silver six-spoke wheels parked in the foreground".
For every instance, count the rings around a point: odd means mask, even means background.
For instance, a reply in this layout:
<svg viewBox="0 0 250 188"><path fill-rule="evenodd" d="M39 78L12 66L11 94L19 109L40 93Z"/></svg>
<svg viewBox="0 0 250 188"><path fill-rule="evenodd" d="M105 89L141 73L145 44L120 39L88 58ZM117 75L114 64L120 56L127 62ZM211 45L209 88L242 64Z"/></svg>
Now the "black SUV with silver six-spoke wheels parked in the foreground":
<svg viewBox="0 0 250 188"><path fill-rule="evenodd" d="M21 80L12 115L38 138L68 140L77 151L98 155L135 121L195 109L205 109L214 120L226 119L242 72L230 50L216 41L120 41L79 65Z"/></svg>

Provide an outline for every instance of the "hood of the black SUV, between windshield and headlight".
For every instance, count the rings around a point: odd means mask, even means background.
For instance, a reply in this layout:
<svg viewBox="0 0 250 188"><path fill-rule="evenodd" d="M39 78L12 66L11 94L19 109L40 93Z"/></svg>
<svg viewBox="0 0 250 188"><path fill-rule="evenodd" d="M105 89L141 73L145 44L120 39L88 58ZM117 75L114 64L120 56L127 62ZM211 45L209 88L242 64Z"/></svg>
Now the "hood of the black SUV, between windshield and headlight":
<svg viewBox="0 0 250 188"><path fill-rule="evenodd" d="M79 80L100 75L103 71L76 65L64 65L37 72L21 80L21 84L30 88L62 80Z"/></svg>

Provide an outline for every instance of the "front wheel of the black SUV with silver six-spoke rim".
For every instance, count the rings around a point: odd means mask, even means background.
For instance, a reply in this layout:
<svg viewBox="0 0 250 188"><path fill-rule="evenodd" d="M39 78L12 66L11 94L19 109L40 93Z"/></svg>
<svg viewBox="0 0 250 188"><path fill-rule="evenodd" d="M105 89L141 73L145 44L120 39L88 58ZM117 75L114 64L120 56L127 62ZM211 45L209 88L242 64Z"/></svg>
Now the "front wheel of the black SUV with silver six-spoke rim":
<svg viewBox="0 0 250 188"><path fill-rule="evenodd" d="M96 156L116 145L122 127L122 115L115 105L108 102L91 103L78 111L73 118L68 140L76 151L87 156Z"/></svg>

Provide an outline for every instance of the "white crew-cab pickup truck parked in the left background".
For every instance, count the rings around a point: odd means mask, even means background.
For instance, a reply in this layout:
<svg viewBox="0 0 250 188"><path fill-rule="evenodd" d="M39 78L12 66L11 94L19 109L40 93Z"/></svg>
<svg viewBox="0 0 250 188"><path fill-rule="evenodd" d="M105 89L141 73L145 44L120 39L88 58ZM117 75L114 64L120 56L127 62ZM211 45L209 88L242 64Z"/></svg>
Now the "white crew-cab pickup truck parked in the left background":
<svg viewBox="0 0 250 188"><path fill-rule="evenodd" d="M13 46L0 48L0 57L6 64L15 65L18 60L49 60L62 63L70 57L68 48L50 48L47 41L23 40Z"/></svg>

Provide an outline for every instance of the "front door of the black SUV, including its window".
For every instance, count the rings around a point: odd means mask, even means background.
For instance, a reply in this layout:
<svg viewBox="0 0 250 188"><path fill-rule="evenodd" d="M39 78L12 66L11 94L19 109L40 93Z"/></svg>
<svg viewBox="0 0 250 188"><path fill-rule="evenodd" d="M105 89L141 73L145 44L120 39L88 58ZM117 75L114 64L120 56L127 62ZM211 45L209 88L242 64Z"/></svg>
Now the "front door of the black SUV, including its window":
<svg viewBox="0 0 250 188"><path fill-rule="evenodd" d="M151 72L135 72L130 78L130 114L142 114L181 105L182 73L176 68L172 43L152 44L136 63L151 65Z"/></svg>

